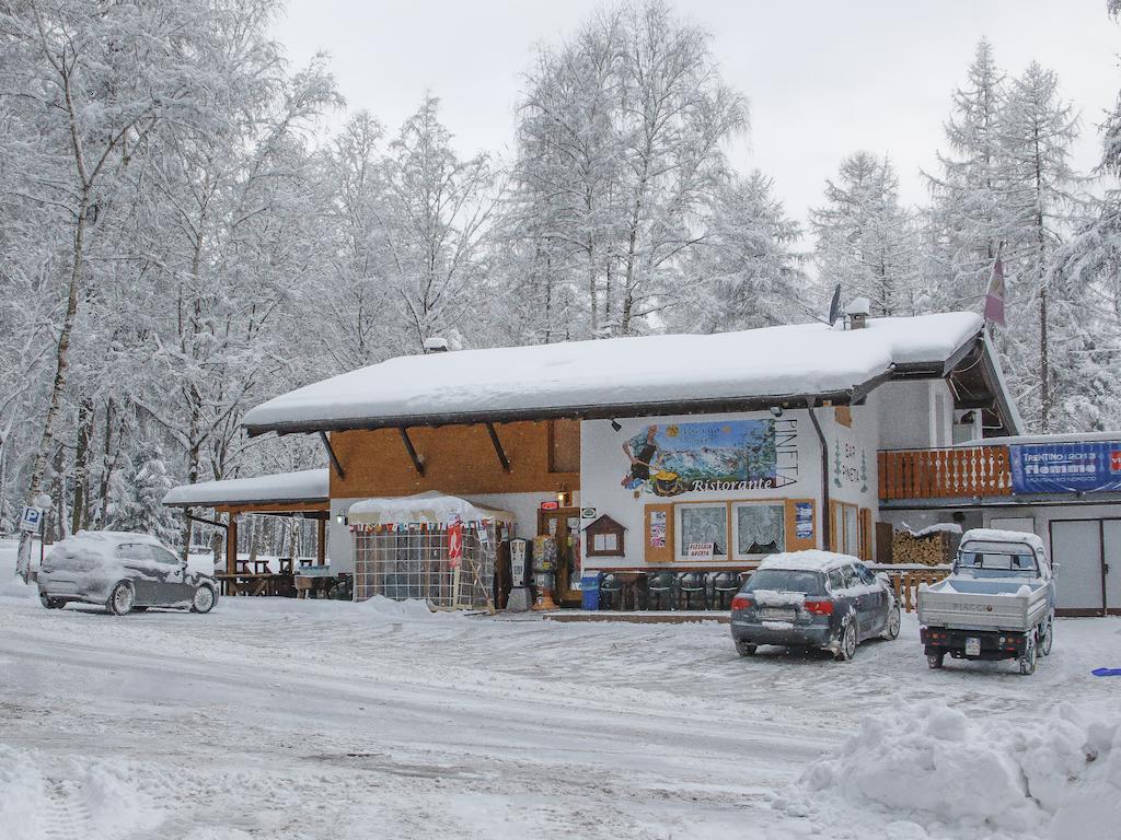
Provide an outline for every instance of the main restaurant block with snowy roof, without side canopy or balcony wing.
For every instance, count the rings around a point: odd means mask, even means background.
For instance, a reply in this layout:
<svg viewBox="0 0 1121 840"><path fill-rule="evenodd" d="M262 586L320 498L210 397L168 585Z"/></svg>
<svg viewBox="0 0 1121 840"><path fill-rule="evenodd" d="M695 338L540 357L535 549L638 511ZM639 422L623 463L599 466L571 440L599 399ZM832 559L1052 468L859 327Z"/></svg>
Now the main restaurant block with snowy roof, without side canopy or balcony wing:
<svg viewBox="0 0 1121 840"><path fill-rule="evenodd" d="M744 569L809 547L871 559L880 450L1021 431L962 312L402 356L244 426L323 435L335 569L353 566L353 504L438 492L559 536L584 571ZM575 539L604 515L613 536Z"/></svg>

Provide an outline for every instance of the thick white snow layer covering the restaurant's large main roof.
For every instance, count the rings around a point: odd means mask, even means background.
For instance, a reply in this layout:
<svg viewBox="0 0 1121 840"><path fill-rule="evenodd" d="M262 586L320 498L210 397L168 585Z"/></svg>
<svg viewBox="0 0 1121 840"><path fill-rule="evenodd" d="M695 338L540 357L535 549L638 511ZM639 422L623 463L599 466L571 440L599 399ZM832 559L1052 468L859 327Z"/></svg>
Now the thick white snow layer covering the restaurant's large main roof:
<svg viewBox="0 0 1121 840"><path fill-rule="evenodd" d="M944 312L852 330L802 324L400 356L269 400L243 424L257 435L844 401L899 367L941 375L982 326Z"/></svg>

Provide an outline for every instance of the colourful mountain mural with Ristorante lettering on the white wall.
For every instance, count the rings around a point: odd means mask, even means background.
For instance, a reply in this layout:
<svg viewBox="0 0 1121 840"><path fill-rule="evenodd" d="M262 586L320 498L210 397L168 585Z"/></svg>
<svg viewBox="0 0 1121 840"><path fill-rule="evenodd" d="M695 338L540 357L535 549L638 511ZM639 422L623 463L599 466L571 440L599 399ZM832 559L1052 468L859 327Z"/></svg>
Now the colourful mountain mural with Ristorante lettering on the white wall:
<svg viewBox="0 0 1121 840"><path fill-rule="evenodd" d="M797 420L651 424L622 445L622 486L656 496L771 489L798 480Z"/></svg>

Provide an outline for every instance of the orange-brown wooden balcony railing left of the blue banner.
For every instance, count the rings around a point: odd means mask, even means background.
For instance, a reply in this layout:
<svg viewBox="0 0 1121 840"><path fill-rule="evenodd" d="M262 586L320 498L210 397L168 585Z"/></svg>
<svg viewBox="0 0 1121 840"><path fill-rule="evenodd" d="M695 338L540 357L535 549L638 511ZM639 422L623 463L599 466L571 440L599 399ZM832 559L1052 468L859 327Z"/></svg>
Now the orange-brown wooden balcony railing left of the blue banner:
<svg viewBox="0 0 1121 840"><path fill-rule="evenodd" d="M892 449L880 452L880 498L1008 496L1008 447Z"/></svg>

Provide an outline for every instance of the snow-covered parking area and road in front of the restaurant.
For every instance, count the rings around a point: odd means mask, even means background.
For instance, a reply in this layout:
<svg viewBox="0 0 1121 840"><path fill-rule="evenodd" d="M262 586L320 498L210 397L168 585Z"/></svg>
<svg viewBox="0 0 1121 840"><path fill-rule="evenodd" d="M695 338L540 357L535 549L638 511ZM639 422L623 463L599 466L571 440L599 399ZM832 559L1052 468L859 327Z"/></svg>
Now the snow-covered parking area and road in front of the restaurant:
<svg viewBox="0 0 1121 840"><path fill-rule="evenodd" d="M1121 620L1034 676L726 626L43 609L0 543L0 837L1113 838ZM1096 722L1095 722L1096 721ZM1093 760L1087 760L1088 756ZM988 818L988 821L985 821ZM1099 833L1094 833L1094 831Z"/></svg>

